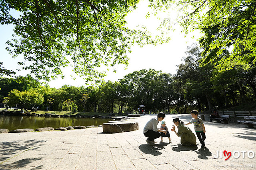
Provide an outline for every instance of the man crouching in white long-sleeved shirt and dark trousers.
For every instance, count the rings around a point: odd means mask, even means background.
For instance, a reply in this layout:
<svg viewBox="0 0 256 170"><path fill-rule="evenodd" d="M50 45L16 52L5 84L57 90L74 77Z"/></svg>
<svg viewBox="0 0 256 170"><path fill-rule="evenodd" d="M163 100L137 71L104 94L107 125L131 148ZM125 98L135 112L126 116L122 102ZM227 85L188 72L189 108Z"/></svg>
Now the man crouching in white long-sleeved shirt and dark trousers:
<svg viewBox="0 0 256 170"><path fill-rule="evenodd" d="M146 123L143 134L144 136L148 137L148 139L146 140L148 144L154 145L156 143L154 139L159 138L161 136L161 132L166 134L166 130L161 130L157 128L158 123L164 120L164 118L165 115L161 112L157 115L157 117L150 119L150 121Z"/></svg>

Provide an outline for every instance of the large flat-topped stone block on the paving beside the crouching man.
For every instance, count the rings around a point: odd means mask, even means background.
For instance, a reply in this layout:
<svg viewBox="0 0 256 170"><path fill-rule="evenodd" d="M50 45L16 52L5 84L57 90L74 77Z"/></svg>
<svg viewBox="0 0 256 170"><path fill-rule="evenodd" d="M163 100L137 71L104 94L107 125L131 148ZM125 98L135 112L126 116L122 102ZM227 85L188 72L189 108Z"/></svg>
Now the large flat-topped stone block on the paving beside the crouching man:
<svg viewBox="0 0 256 170"><path fill-rule="evenodd" d="M139 129L139 123L127 123L127 122L116 122L116 123L103 123L103 132L105 133L120 133L130 132Z"/></svg>

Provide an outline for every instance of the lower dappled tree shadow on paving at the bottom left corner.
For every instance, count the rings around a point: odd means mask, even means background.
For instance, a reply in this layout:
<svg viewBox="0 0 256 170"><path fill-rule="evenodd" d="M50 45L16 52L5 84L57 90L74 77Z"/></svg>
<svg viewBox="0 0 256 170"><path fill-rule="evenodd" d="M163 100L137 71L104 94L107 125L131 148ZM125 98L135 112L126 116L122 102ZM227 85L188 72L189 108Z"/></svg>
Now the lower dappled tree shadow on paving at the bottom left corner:
<svg viewBox="0 0 256 170"><path fill-rule="evenodd" d="M42 160L43 157L40 157L40 158L25 158L25 159L22 159L22 160L18 160L16 162L10 162L10 163L2 163L0 164L0 169L2 170L7 170L7 169L14 169L14 168L23 168L25 167L27 164L30 164L34 161L38 161L38 160ZM41 167L40 169L42 169L43 167ZM35 168L33 168L35 169ZM36 167L36 169L38 169L38 167Z"/></svg>

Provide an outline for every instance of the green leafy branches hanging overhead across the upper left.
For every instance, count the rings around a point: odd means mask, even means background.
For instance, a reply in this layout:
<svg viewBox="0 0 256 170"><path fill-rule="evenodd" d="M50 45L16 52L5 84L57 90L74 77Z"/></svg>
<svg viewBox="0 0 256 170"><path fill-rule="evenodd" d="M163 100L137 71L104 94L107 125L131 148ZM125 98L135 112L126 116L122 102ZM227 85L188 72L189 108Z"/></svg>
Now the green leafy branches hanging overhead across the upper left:
<svg viewBox="0 0 256 170"><path fill-rule="evenodd" d="M37 79L50 81L62 74L63 67L87 81L97 80L102 65L128 65L127 52L134 43L161 43L146 30L130 30L125 16L138 0L0 0L1 24L14 24L14 38L6 48ZM22 13L14 18L10 10Z"/></svg>

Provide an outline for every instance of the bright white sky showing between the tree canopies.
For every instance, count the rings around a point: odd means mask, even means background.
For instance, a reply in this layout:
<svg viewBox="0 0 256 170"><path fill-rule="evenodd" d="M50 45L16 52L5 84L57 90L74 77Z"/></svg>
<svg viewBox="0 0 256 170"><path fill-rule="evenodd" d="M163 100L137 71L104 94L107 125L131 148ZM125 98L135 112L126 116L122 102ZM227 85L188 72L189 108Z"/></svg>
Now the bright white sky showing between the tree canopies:
<svg viewBox="0 0 256 170"><path fill-rule="evenodd" d="M146 18L146 14L150 11L148 7L148 0L142 0L138 4L138 8L132 13L128 14L127 26L128 28L135 28L137 25L144 25L146 28L152 33L156 32L156 28L160 24L160 20L158 20L154 15L150 18ZM171 17L170 17L171 16ZM175 18L176 12L170 12L169 14L160 14L160 17L163 19L165 17ZM3 66L6 69L12 69L16 71L16 69L21 69L18 66L17 62L22 61L22 56L13 59L11 55L5 50L7 40L11 40L13 34L13 26L11 25L1 25L0 26L0 61L3 62ZM132 47L132 53L127 53L129 60L128 69L124 70L124 65L117 65L117 72L113 72L113 68L109 67L110 71L107 72L107 76L104 77L105 81L118 81L122 79L125 75L132 73L134 71L139 71L141 69L155 69L156 71L162 70L165 73L175 74L178 69L177 65L182 63L181 59L185 56L185 51L187 46L190 46L192 43L196 43L196 39L200 37L198 31L191 32L189 35L184 37L184 34L181 33L181 28L176 24L175 32L170 31L169 36L171 40L169 43L165 43L162 45L154 46L154 45L146 45L143 48L139 46ZM192 39L191 37L195 38ZM28 71L19 71L17 75L26 76ZM76 76L72 72L72 68L65 68L63 70L65 75L64 79L58 78L56 80L50 81L48 84L50 87L60 88L63 85L73 85L76 87L80 87L84 85L84 79ZM71 78L76 77L76 80Z"/></svg>

